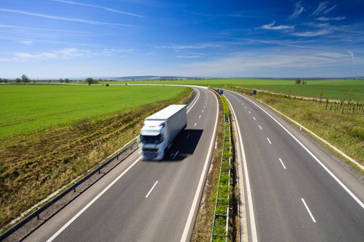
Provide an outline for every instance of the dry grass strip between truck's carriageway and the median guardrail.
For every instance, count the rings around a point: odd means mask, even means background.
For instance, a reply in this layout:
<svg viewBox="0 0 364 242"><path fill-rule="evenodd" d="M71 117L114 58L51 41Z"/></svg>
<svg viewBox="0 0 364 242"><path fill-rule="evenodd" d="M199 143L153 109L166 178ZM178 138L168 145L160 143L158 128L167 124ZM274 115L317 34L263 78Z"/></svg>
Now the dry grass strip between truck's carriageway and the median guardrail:
<svg viewBox="0 0 364 242"><path fill-rule="evenodd" d="M218 95L217 93L215 93ZM215 149L212 153L211 164L209 172L207 174L207 180L205 183L204 190L202 192L202 198L196 222L193 227L191 241L210 241L212 221L214 219L216 193L218 189L218 176L221 164L221 155L223 153L223 142L224 142L224 111L223 103L218 98L218 129L216 133Z"/></svg>

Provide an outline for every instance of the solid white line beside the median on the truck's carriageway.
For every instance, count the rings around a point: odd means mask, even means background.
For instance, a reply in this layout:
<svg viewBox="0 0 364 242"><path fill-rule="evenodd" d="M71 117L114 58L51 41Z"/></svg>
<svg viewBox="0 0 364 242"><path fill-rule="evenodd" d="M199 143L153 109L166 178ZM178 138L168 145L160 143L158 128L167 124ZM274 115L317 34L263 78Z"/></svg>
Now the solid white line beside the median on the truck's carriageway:
<svg viewBox="0 0 364 242"><path fill-rule="evenodd" d="M209 146L209 152L207 153L206 160L205 160L205 165L204 165L204 167L202 169L202 176L200 176L200 181L198 182L198 188L196 190L195 197L193 198L193 202L192 202L192 205L191 205L191 210L189 211L189 217L187 218L186 225L184 226L183 234L182 234L182 237L181 237L181 242L185 242L185 241L190 239L190 238L187 238L187 236L189 236L189 229L191 227L193 214L195 214L196 208L198 207L198 202L199 202L198 198L200 197L200 192L201 192L202 186L204 185L204 182L205 182L205 174L206 174L206 171L207 171L207 167L209 165L209 160L211 158L211 151L212 151L212 148L214 147L214 142L215 142L215 137L216 137L216 127L218 125L218 99L216 98L215 95L214 95L214 97L215 97L216 106L217 106L214 133L212 134L211 143L210 143L210 146Z"/></svg>

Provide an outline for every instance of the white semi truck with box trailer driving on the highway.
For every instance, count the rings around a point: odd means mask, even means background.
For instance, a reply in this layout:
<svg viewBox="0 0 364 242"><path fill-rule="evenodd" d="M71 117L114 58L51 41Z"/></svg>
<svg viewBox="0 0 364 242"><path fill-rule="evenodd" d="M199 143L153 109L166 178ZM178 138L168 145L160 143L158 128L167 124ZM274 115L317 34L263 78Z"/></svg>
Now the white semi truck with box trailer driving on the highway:
<svg viewBox="0 0 364 242"><path fill-rule="evenodd" d="M187 105L170 105L144 120L139 148L144 160L162 160L175 137L187 127Z"/></svg>

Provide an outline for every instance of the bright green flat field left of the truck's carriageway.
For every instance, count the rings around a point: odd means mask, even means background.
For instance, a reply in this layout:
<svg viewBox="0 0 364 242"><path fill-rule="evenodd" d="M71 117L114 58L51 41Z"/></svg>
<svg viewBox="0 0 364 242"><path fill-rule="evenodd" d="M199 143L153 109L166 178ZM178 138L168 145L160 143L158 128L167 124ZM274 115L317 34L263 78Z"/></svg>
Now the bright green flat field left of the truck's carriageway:
<svg viewBox="0 0 364 242"><path fill-rule="evenodd" d="M175 86L1 85L0 140L168 100Z"/></svg>

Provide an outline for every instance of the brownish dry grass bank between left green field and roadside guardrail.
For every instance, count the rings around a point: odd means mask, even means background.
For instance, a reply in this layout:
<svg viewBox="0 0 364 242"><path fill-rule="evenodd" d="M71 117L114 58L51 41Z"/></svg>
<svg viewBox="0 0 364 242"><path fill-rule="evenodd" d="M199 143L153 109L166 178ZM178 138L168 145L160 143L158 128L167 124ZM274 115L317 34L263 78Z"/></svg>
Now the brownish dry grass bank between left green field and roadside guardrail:
<svg viewBox="0 0 364 242"><path fill-rule="evenodd" d="M157 89L151 92L158 93ZM142 105L129 102L128 111L0 140L0 227L97 167L100 160L137 136L146 116L169 104L185 103L191 95L187 88L177 94L168 92L167 96L174 97ZM133 98L129 93L128 99Z"/></svg>

